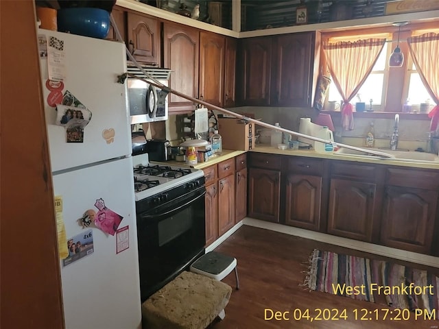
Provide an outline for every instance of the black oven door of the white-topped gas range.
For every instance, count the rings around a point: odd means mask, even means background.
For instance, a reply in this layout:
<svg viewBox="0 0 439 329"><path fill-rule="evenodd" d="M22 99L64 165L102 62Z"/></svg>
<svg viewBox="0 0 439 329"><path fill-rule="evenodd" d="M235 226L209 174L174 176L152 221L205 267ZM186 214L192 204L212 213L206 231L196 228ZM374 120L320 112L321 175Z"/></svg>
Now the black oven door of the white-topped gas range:
<svg viewBox="0 0 439 329"><path fill-rule="evenodd" d="M204 186L137 215L142 302L204 254Z"/></svg>

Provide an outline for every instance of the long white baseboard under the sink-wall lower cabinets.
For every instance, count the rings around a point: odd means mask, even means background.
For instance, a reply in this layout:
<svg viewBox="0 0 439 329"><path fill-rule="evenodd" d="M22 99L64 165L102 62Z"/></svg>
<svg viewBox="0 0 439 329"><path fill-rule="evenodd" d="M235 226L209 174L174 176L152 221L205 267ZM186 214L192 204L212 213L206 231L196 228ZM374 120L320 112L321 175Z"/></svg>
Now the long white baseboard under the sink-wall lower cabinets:
<svg viewBox="0 0 439 329"><path fill-rule="evenodd" d="M340 247L355 249L361 252L369 252L370 254L377 254L380 256L405 260L411 263L439 268L439 257L418 254L416 252L406 252L405 250L401 250L401 249L385 247L383 245L375 245L373 243L367 243L363 241L355 241L355 240L341 238L339 236L333 236L330 234L324 234L320 232L303 230L302 228L294 228L292 226L286 226L278 223L271 223L269 221L260 221L259 219L252 219L250 217L244 218L242 222L244 223L244 225L247 226L265 228L266 230L272 230L289 235L300 236L301 238L316 240L324 243L330 243L331 245L340 245Z"/></svg>

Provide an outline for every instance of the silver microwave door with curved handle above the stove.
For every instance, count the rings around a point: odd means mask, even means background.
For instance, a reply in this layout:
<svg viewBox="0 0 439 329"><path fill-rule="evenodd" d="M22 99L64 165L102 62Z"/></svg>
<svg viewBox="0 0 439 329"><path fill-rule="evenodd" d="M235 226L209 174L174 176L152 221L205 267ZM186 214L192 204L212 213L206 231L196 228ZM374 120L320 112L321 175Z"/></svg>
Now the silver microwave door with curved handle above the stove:
<svg viewBox="0 0 439 329"><path fill-rule="evenodd" d="M141 80L128 80L131 124L152 122L157 110L156 87Z"/></svg>

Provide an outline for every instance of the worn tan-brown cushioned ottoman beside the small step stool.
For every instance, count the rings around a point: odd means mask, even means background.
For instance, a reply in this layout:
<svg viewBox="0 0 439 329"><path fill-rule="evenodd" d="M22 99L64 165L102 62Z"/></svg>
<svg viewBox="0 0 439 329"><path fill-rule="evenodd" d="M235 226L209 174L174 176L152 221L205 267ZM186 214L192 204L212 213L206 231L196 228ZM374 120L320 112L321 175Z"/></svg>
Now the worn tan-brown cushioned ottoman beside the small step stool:
<svg viewBox="0 0 439 329"><path fill-rule="evenodd" d="M184 271L142 304L144 329L205 329L224 310L232 287Z"/></svg>

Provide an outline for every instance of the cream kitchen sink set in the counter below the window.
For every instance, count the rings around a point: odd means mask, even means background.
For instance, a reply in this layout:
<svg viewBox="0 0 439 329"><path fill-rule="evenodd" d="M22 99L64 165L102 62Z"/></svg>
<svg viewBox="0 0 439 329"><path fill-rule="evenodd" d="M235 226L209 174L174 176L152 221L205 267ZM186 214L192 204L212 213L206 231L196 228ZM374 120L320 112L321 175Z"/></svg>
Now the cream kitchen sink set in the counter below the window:
<svg viewBox="0 0 439 329"><path fill-rule="evenodd" d="M439 163L439 156L437 154L417 152L417 151L407 151L403 149L394 150L394 149L371 148L370 150L389 154L390 156L392 156L392 158L384 158L367 152L357 151L355 149L348 149L346 147L341 147L340 149L335 151L334 154L342 155L342 156L355 156L358 158L375 158L375 159L379 158L379 159L407 161L407 162L438 162Z"/></svg>

